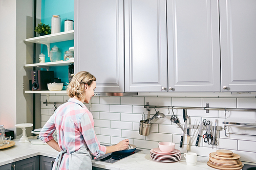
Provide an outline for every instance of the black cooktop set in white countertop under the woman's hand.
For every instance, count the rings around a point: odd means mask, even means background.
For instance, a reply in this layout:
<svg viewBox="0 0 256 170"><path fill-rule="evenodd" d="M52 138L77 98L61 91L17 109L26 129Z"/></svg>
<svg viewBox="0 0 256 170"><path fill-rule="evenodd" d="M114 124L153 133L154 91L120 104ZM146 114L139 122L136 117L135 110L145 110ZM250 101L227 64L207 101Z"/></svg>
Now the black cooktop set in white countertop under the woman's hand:
<svg viewBox="0 0 256 170"><path fill-rule="evenodd" d="M105 154L97 159L94 159L96 161L102 161L102 162L108 162L108 163L115 163L127 156L133 155L137 152L140 152L142 150L138 150L136 149L133 153L130 154L115 154L115 153L109 153L109 154Z"/></svg>

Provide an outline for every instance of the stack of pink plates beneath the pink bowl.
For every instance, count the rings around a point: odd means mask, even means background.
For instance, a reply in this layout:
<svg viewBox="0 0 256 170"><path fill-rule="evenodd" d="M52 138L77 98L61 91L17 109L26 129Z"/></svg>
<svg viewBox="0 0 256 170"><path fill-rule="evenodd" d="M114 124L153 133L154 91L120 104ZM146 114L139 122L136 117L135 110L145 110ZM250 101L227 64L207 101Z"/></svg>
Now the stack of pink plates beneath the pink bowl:
<svg viewBox="0 0 256 170"><path fill-rule="evenodd" d="M172 152L162 152L159 148L150 150L151 159L159 162L176 162L181 158L180 150L174 149Z"/></svg>

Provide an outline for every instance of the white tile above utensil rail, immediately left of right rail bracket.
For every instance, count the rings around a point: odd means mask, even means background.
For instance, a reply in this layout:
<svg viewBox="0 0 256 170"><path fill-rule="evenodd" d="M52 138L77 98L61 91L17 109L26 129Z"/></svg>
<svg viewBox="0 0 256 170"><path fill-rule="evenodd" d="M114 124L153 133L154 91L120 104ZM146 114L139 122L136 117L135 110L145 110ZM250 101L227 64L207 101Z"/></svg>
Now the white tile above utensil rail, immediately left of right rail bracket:
<svg viewBox="0 0 256 170"><path fill-rule="evenodd" d="M173 106L202 107L202 98L173 98Z"/></svg>

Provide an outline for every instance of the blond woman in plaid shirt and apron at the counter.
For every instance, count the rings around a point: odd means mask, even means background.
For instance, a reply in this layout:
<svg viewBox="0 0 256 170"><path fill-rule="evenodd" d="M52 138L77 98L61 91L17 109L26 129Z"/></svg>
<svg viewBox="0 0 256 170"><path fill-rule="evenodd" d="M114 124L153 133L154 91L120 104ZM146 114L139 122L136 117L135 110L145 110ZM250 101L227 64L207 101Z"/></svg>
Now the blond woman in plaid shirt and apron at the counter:
<svg viewBox="0 0 256 170"><path fill-rule="evenodd" d="M96 159L128 148L128 139L105 147L95 135L93 116L83 104L94 96L95 81L89 72L78 72L67 88L70 99L57 108L40 132L39 138L59 151L53 169L92 169L91 155ZM55 129L58 143L52 136Z"/></svg>

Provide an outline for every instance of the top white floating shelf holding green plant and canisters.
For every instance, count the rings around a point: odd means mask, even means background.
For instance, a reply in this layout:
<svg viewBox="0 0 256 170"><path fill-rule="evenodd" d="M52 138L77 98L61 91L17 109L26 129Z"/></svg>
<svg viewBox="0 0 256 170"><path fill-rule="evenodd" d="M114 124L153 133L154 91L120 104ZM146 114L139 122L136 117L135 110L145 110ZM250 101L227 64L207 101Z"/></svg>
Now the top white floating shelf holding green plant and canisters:
<svg viewBox="0 0 256 170"><path fill-rule="evenodd" d="M74 30L66 31L66 32L60 32L50 35L43 35L39 37L33 37L28 38L25 41L27 42L33 42L38 44L49 44L54 42L60 42L60 41L68 41L74 39Z"/></svg>

